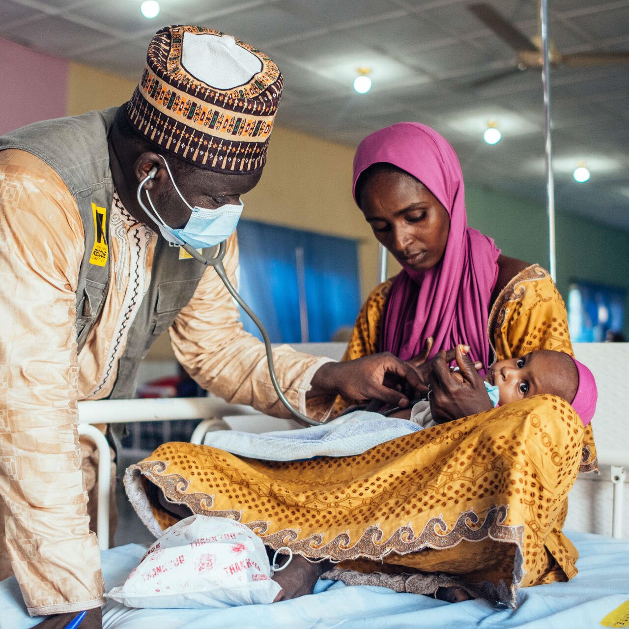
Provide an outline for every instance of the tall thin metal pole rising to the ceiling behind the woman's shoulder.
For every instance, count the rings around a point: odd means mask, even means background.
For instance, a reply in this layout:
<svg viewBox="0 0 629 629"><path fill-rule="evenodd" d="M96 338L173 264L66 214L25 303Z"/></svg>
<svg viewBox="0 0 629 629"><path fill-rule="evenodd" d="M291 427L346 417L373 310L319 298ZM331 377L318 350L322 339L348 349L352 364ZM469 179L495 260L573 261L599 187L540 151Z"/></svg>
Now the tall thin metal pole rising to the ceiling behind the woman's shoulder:
<svg viewBox="0 0 629 629"><path fill-rule="evenodd" d="M542 24L542 86L544 92L544 133L546 165L546 202L548 208L548 260L550 277L557 281L555 260L555 181L552 174L552 138L550 119L550 58L548 47L548 0L540 0L540 20Z"/></svg>

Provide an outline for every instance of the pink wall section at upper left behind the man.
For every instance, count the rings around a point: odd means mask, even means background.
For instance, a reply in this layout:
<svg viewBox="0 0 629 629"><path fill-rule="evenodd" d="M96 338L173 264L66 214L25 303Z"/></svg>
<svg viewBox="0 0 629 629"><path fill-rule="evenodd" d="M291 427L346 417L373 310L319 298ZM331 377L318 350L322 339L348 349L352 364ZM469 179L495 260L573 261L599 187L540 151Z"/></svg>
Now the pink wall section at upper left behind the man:
<svg viewBox="0 0 629 629"><path fill-rule="evenodd" d="M0 135L65 116L68 62L0 38Z"/></svg>

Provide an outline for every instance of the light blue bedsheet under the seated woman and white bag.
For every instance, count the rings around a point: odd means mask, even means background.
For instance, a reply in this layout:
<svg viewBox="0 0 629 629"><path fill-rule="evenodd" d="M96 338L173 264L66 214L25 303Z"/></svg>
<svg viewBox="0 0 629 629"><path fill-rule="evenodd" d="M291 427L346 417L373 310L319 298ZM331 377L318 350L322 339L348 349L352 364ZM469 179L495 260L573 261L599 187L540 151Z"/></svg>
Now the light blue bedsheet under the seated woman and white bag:
<svg viewBox="0 0 629 629"><path fill-rule="evenodd" d="M568 583L526 587L518 608L486 601L443 603L383 587L319 581L316 594L271 605L220 610L130 610L108 603L104 629L589 629L629 599L629 540L567 533L579 549L579 574ZM130 544L103 552L106 586L121 584L144 548ZM0 583L0 628L28 629L16 581ZM625 625L626 626L626 625Z"/></svg>

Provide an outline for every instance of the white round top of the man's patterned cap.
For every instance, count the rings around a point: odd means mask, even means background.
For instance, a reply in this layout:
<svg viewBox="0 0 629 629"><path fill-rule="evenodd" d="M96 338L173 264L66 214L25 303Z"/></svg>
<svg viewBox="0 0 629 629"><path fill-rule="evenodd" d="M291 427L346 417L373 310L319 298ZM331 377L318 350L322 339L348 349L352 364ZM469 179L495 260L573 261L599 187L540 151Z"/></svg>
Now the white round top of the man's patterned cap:
<svg viewBox="0 0 629 629"><path fill-rule="evenodd" d="M184 33L181 64L199 81L216 89L232 89L251 81L262 61L238 46L230 35Z"/></svg>

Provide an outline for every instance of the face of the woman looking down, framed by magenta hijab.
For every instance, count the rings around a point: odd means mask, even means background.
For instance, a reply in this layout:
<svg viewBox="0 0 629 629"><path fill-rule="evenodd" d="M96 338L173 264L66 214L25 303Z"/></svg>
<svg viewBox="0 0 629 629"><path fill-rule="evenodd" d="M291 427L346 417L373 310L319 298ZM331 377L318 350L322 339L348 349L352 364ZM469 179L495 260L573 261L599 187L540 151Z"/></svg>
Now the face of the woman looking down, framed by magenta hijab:
<svg viewBox="0 0 629 629"><path fill-rule="evenodd" d="M362 186L360 209L376 238L400 264L425 271L442 259L450 216L415 177L375 172Z"/></svg>

